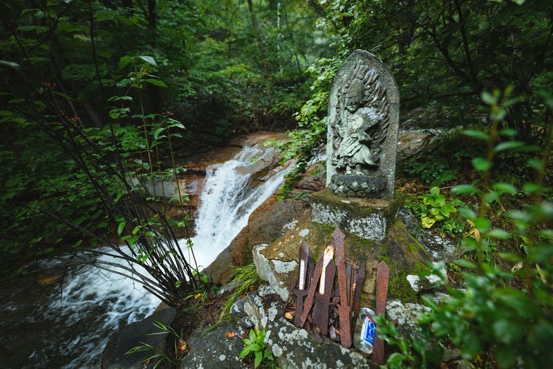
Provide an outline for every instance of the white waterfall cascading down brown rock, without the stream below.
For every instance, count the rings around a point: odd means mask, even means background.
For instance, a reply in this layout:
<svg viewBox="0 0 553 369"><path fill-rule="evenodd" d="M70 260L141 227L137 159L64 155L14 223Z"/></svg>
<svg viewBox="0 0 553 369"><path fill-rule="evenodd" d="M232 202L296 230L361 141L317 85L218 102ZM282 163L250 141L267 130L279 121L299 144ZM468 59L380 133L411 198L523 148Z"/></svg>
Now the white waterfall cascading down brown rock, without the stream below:
<svg viewBox="0 0 553 369"><path fill-rule="evenodd" d="M274 158L274 149L244 147L234 159L207 168L196 220L194 256L198 268L209 267L247 225L247 219L283 183L288 168L278 167L252 186L252 176ZM185 241L180 242L182 247Z"/></svg>

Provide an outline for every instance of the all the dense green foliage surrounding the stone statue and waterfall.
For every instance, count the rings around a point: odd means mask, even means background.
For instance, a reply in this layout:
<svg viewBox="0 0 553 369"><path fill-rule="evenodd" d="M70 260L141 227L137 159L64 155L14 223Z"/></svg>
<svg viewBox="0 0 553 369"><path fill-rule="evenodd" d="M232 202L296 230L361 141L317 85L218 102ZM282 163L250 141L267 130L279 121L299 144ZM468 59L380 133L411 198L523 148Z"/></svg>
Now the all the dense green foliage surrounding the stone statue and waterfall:
<svg viewBox="0 0 553 369"><path fill-rule="evenodd" d="M290 190L362 48L395 76L403 127L440 129L400 158L408 206L467 250L420 336L388 327L388 366L439 363L451 343L479 367L553 362L547 1L2 1L0 20L3 269L120 238L178 305L205 281L185 255L156 268L187 217L138 195L182 170L176 150L267 128L292 129Z"/></svg>

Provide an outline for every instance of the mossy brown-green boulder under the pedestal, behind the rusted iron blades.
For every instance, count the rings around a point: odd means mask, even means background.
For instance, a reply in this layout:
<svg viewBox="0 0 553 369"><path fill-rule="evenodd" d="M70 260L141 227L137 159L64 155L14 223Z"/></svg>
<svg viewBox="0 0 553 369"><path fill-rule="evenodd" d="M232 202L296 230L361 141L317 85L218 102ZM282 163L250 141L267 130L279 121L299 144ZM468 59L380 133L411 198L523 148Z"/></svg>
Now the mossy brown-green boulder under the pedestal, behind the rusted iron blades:
<svg viewBox="0 0 553 369"><path fill-rule="evenodd" d="M279 296L288 298L288 289L298 278L299 273L299 246L305 241L315 260L330 244L330 237L335 227L327 224L310 222L310 212L306 212L294 222L285 227L285 234L269 246L256 249L256 267L259 276L268 280ZM415 292L407 276L418 275L426 270L429 256L422 246L406 231L401 219L391 224L384 240L366 240L352 233L346 233L344 240L346 260L355 260L357 265L365 264L366 278L363 284L362 304L371 306L375 298L375 280L377 263L386 260L390 266L390 298L401 298L407 302L417 300ZM293 263L292 263L293 262ZM277 273L274 265L283 263L293 269L287 273ZM281 269L283 270L283 269ZM368 304L368 305L366 305Z"/></svg>

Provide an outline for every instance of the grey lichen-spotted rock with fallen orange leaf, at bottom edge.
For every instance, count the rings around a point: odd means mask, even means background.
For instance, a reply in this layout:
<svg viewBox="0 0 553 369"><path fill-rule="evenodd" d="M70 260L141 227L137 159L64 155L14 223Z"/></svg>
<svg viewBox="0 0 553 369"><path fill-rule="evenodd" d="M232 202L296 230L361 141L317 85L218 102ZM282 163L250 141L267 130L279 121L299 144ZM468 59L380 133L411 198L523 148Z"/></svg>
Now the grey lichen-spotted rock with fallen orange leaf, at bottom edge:
<svg viewBox="0 0 553 369"><path fill-rule="evenodd" d="M218 325L214 330L196 330L187 339L190 351L180 369L248 368L238 355L244 348L245 331L236 323ZM227 334L230 333L230 334Z"/></svg>

